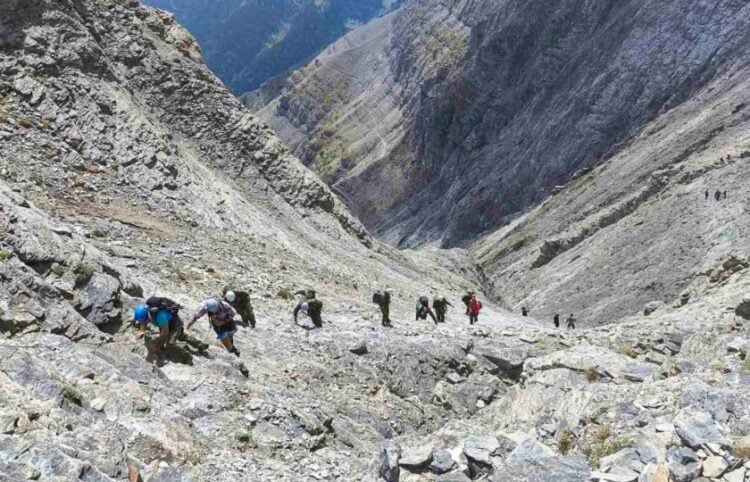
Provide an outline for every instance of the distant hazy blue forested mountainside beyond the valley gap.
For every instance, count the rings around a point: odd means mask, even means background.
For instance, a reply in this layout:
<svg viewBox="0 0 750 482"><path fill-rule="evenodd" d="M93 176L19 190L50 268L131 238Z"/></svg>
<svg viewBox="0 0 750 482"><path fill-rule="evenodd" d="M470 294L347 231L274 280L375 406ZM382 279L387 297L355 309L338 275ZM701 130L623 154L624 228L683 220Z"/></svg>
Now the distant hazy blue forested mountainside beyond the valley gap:
<svg viewBox="0 0 750 482"><path fill-rule="evenodd" d="M144 0L173 12L238 94L257 89L397 5L392 0Z"/></svg>

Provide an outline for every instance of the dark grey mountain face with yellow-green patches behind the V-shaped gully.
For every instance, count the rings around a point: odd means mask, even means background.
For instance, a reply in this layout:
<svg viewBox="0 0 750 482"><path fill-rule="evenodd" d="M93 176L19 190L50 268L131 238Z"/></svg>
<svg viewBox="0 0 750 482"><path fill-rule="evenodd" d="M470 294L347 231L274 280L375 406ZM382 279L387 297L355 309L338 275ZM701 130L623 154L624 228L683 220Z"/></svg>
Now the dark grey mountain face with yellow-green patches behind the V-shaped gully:
<svg viewBox="0 0 750 482"><path fill-rule="evenodd" d="M258 112L378 237L454 246L745 62L749 18L729 0L412 0Z"/></svg>

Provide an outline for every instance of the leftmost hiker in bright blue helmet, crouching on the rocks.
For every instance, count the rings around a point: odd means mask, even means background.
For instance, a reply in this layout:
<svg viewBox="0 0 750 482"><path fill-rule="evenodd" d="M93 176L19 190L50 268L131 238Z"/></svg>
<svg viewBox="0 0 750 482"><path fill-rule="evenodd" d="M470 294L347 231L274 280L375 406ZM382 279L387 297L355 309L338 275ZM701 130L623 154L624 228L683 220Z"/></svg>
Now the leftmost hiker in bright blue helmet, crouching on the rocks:
<svg viewBox="0 0 750 482"><path fill-rule="evenodd" d="M159 337L147 346L149 357L158 356L164 346L172 340L185 342L199 351L208 349L206 343L184 332L179 315L180 308L182 307L179 304L169 298L152 296L146 300L145 305L136 306L133 310L133 320L141 330L140 336L145 335L149 323L159 329Z"/></svg>

